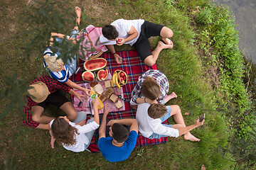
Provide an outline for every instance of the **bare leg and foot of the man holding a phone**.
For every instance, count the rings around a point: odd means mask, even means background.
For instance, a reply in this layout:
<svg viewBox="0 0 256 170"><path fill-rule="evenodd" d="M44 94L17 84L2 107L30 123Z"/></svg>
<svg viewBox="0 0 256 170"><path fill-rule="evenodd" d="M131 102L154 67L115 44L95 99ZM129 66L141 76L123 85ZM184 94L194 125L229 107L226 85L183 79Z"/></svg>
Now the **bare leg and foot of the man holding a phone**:
<svg viewBox="0 0 256 170"><path fill-rule="evenodd" d="M181 108L178 105L171 105L171 115L174 116L174 121L178 125L171 125L172 128L181 128L180 126L182 125L183 127L186 127L185 122L183 120L183 116L181 114ZM194 137L190 132L187 132L186 134L183 135L184 140L191 140L192 142L199 142L200 140L196 137Z"/></svg>

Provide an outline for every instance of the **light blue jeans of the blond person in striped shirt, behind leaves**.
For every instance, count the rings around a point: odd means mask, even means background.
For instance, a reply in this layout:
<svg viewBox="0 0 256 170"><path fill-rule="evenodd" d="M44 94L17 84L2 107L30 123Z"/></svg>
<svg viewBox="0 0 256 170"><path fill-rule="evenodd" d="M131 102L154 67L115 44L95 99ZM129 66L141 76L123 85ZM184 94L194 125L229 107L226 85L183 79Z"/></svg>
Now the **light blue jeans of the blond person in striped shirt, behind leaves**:
<svg viewBox="0 0 256 170"><path fill-rule="evenodd" d="M76 38L76 35L79 33L79 30L72 30L70 37L71 38ZM55 39L57 42L62 42L63 38L56 38ZM56 52L57 55L60 55L60 50L58 50L58 52ZM77 67L77 63L76 63L76 55L74 57L70 57L70 60L67 61L67 63L65 64L68 67L68 70L70 71L70 76L75 74L75 70Z"/></svg>

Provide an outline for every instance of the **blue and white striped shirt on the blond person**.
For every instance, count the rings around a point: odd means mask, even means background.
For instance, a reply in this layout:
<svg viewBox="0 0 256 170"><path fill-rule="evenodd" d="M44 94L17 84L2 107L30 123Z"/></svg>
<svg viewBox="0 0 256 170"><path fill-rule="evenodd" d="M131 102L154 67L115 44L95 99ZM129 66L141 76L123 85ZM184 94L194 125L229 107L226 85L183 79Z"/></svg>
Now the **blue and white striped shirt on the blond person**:
<svg viewBox="0 0 256 170"><path fill-rule="evenodd" d="M43 56L45 55L50 55L50 56L56 56L58 57L57 54L53 54L53 51L50 50L49 47L46 48L46 50L43 52ZM43 59L43 67L47 68L47 64L46 61ZM50 72L50 77L53 77L54 79L57 79L58 81L60 81L60 83L65 83L66 81L68 81L68 78L71 76L70 71L68 69L68 67L66 66L66 64L64 64L65 69L61 70L60 72L52 72L50 69L48 69L48 71Z"/></svg>

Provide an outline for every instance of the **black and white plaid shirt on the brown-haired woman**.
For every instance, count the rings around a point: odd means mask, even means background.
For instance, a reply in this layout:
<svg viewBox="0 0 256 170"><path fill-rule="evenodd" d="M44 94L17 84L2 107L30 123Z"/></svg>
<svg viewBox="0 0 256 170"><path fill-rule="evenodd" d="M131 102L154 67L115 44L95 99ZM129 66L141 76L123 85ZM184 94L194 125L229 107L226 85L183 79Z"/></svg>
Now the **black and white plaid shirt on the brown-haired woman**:
<svg viewBox="0 0 256 170"><path fill-rule="evenodd" d="M134 87L132 91L132 96L131 96L131 105L137 105L137 98L141 97L141 91L142 91L142 86L143 86L143 81L146 79L146 77L152 77L156 83L160 86L160 91L161 95L157 99L159 103L164 104L164 97L168 94L169 92L169 81L167 77L164 75L164 73L160 72L157 69L149 69L148 71L144 72L142 76L139 77L139 80Z"/></svg>

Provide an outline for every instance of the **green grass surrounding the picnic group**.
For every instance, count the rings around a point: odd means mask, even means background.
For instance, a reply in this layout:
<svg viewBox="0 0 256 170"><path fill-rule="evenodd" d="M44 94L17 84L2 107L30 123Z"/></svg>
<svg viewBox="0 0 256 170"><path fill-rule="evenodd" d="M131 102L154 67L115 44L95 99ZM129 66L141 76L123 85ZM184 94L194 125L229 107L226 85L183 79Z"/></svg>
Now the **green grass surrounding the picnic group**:
<svg viewBox="0 0 256 170"><path fill-rule="evenodd" d="M11 8L17 8L18 5L22 6L22 9L17 11L20 15L23 10L28 9L24 1L18 1L17 4L13 4L12 1L5 3L10 4ZM68 1L67 4L63 3L63 6L85 8L84 13L90 20L82 20L81 28L87 24L104 26L118 18L144 18L147 21L161 23L171 28L174 31L174 37L171 38L174 42L174 49L163 50L159 55L157 64L159 70L164 72L169 79L170 93L175 91L178 95L178 98L169 101L168 104L177 104L181 107L182 113L190 113L190 115L184 115L186 125L193 124L199 115L206 113L205 124L191 131L193 135L201 139L201 142L188 142L183 140L183 137L178 137L178 139L169 137L168 142L164 145L137 147L129 159L124 162L110 163L102 157L102 154L73 153L60 145L55 145L55 149L51 149L48 132L24 127L21 116L15 110L11 111L0 122L1 167L8 169L27 169L27 167L33 167L33 169L200 169L201 165L204 164L206 169L231 169L234 166L233 162L227 160L230 159L230 154L225 155L224 159L220 153L220 148L228 144L228 137L233 131L230 130L230 125L226 121L229 120L229 117L225 115L225 111L220 111L218 101L225 102L227 97L235 98L231 93L232 88L230 86L237 83L222 77L220 86L222 89L227 89L225 91L216 91L218 88L208 83L207 69L216 67L216 65L218 69L225 69L225 67L220 65L223 64L223 58L219 56L219 58L214 58L215 53L212 53L213 48L219 50L217 47L220 45L215 44L213 46L213 43L208 43L208 40L212 38L213 28L207 29L209 34L202 32L203 26L213 23L215 18L212 13L218 13L221 11L220 8L208 8L208 1L206 0L112 0L97 1L94 5L90 1ZM199 6L201 11L207 7L200 17L197 14L200 12L193 14L196 6ZM10 21L6 19L7 13L3 13L3 15L1 21ZM17 33L23 33L26 23L18 23L16 16L13 20L17 22ZM7 23L4 23L4 26L6 29L9 28ZM65 30L68 30L71 24L63 23L63 26ZM220 28L215 29L218 31L223 28L224 26L220 26ZM10 31L6 31L6 34L12 35ZM230 38L233 35L225 36ZM42 67L41 50L43 50L43 45L33 49L31 52L33 55L30 56L31 62L21 60L24 58L21 55L21 47L24 43L30 43L24 42L24 40L26 40L25 37L18 36L0 42L3 47L3 50L0 51L0 63L4 71L0 72L1 86L4 86L6 75L13 74L16 70L18 77L26 81L27 84L29 81L46 74ZM150 40L152 49L156 47L158 40L159 38ZM232 41L237 45L236 40ZM117 50L127 49L131 49L131 47L125 45L117 48ZM230 68L238 64L242 68L242 60L230 63ZM235 76L241 80L240 72L237 72ZM245 93L246 91L240 91L242 95ZM228 102L230 101L228 100ZM243 97L241 102L246 103L247 98ZM8 101L4 101L2 106L6 103ZM0 111L2 111L2 107ZM56 109L49 108L46 114L57 116L58 113L55 111ZM170 118L169 123L174 123L174 120Z"/></svg>

